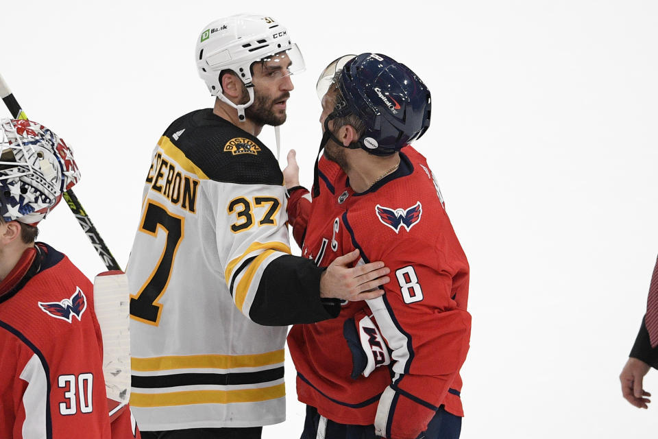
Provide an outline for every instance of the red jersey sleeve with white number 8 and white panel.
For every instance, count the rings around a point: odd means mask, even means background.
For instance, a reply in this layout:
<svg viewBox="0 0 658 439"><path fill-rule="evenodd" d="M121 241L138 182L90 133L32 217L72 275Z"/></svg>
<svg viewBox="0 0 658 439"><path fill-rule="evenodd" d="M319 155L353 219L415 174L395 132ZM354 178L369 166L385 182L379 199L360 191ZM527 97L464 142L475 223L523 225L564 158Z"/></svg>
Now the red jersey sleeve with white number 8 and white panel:
<svg viewBox="0 0 658 439"><path fill-rule="evenodd" d="M395 377L382 394L377 434L414 439L439 409L469 347L468 265L452 230L435 246L404 239L381 259L391 268L386 294L369 300L391 348Z"/></svg>

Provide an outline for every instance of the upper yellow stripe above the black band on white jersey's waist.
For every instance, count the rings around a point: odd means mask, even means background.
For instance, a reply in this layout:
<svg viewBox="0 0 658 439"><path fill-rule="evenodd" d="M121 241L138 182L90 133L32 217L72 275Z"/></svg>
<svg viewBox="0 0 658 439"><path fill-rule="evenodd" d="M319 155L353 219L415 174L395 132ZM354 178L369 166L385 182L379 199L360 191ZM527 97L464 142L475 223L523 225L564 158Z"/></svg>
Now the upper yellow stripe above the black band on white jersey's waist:
<svg viewBox="0 0 658 439"><path fill-rule="evenodd" d="M167 357L132 357L132 370L155 372L171 369L256 368L284 362L284 350L253 355L170 355Z"/></svg>

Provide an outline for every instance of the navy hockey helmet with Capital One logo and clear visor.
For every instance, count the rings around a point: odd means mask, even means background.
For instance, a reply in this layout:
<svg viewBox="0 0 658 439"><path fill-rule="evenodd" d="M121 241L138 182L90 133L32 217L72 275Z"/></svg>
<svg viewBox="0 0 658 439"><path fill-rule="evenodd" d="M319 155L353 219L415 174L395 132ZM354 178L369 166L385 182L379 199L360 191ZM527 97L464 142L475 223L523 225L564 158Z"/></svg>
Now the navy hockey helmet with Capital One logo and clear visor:
<svg viewBox="0 0 658 439"><path fill-rule="evenodd" d="M349 114L361 119L365 132L358 147L370 154L398 152L430 126L429 89L409 67L388 56L365 53L335 60L320 75L320 97L334 82L341 99L332 119Z"/></svg>

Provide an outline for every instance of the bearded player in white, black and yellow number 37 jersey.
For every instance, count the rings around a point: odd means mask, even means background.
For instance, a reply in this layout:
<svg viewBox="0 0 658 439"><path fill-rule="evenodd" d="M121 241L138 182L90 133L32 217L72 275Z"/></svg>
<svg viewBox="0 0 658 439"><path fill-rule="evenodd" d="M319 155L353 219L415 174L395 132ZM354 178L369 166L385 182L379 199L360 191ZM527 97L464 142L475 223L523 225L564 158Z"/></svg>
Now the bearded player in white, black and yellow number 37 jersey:
<svg viewBox="0 0 658 439"><path fill-rule="evenodd" d="M160 137L127 265L130 403L143 438L260 438L285 418L285 325L380 296L368 290L389 270L348 268L348 254L323 271L290 254L282 172L256 137L285 121L304 68L287 29L269 16L214 21L195 60L215 106Z"/></svg>

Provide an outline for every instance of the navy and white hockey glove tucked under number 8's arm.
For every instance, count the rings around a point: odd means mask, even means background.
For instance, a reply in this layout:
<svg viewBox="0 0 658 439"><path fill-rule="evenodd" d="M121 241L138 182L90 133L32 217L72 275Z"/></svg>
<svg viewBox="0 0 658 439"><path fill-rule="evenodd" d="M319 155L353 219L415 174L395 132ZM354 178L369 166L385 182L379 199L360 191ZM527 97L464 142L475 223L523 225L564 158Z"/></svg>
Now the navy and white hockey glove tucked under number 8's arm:
<svg viewBox="0 0 658 439"><path fill-rule="evenodd" d="M352 379L367 377L375 368L391 362L389 348L369 308L356 311L353 318L345 320L343 336L352 353Z"/></svg>

